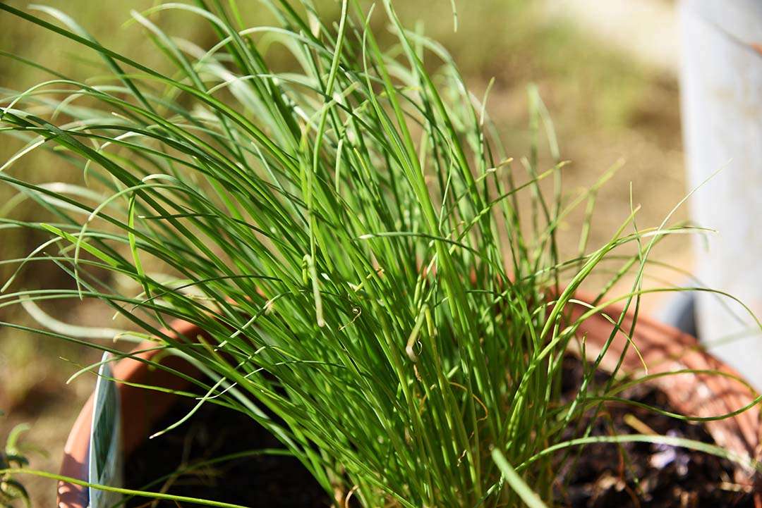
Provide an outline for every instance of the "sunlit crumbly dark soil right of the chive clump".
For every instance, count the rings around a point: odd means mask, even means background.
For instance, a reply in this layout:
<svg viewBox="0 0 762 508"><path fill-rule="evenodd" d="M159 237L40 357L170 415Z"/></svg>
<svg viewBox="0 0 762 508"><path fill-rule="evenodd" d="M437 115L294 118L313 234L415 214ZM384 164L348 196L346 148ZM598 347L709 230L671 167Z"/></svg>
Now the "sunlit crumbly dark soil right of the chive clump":
<svg viewBox="0 0 762 508"><path fill-rule="evenodd" d="M562 393L571 397L580 387L583 367L576 357L566 357L562 372ZM602 386L610 379L598 372L594 383ZM622 392L632 402L670 411L667 395L652 386L639 385ZM674 410L672 410L674 411ZM645 424L639 426L630 418ZM587 425L590 421L582 421ZM628 420L630 423L628 423ZM610 436L654 430L662 436L684 437L714 443L703 424L676 420L629 404L608 403L593 425L592 435ZM579 437L578 428L565 430L565 440ZM753 495L738 491L733 482L732 463L690 449L651 443L596 443L581 452L554 459L555 495L561 506L604 508L648 506L648 508L725 508L754 506Z"/></svg>

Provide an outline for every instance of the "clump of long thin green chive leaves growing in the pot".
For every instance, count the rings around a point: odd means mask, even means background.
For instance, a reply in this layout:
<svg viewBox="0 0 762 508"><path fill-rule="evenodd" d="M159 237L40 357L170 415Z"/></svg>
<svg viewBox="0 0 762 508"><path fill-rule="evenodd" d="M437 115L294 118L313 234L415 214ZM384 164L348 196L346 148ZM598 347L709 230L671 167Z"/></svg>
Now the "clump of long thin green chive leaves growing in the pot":
<svg viewBox="0 0 762 508"><path fill-rule="evenodd" d="M19 148L0 180L18 190L11 205L49 217L20 221L6 206L3 228L47 236L6 262L54 263L74 283L27 291L11 278L0 306L108 303L207 373L191 379L199 405L250 415L361 506L552 500L546 449L589 408L584 392L560 404L579 325L565 316L579 284L639 233L623 226L560 262L568 208L553 144L555 167L538 167L536 148L512 164L486 99L391 0L328 5L330 22L311 0L258 8L277 23L251 27L235 0L133 12L166 71L54 8L0 4L4 23L51 30L103 64L88 81L43 69L48 81L3 90L0 130ZM201 17L215 39L172 37L158 14ZM273 44L288 54L280 70ZM530 99L533 129L549 126ZM39 151L79 183L14 173ZM548 176L552 198L539 189ZM178 319L204 337L168 332Z"/></svg>

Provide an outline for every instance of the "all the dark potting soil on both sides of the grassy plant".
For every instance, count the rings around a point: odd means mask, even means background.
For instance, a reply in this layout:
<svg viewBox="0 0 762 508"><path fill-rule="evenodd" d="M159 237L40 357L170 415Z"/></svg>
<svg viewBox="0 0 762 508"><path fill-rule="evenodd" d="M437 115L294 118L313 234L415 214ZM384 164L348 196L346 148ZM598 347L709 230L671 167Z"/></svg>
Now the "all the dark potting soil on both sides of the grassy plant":
<svg viewBox="0 0 762 508"><path fill-rule="evenodd" d="M581 361L564 360L562 392L571 397L582 377ZM600 373L596 383L605 383ZM664 392L637 386L623 394L669 410ZM178 402L158 422L162 430L187 414L195 401ZM607 404L593 426L594 435L641 433L627 423L637 418L656 433L713 443L701 424L690 424L654 414L632 405ZM578 437L576 428L565 431L565 439ZM188 497L203 497L268 508L325 508L331 497L301 463L289 456L257 455L226 462L200 463L248 450L280 448L280 443L251 418L218 405L204 404L178 429L143 443L126 459L126 487L143 488L157 478L164 481L147 490ZM563 459L566 459L565 461ZM705 453L649 443L600 443L581 453L554 457L558 465L555 496L558 506L569 508L712 508L754 506L751 494L733 491L732 464ZM184 474L175 474L185 469ZM172 501L133 498L126 506L177 508ZM181 503L180 506L191 506Z"/></svg>

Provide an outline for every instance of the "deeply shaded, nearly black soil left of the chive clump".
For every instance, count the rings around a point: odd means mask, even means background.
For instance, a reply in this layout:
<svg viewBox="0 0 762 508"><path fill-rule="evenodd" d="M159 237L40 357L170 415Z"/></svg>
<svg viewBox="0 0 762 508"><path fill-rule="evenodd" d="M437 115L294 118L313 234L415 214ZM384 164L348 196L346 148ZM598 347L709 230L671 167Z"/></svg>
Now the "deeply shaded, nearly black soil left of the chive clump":
<svg viewBox="0 0 762 508"><path fill-rule="evenodd" d="M174 405L155 430L165 429L193 408L187 399ZM251 417L204 404L177 429L142 443L125 461L128 488L235 503L251 508L328 508L331 499L306 468L291 456L254 455L211 465L203 462L240 452L282 449L283 445ZM201 465L200 468L194 467ZM176 475L185 469L185 474ZM190 469L190 470L189 470ZM168 476L151 487L146 485ZM199 506L135 497L127 508Z"/></svg>

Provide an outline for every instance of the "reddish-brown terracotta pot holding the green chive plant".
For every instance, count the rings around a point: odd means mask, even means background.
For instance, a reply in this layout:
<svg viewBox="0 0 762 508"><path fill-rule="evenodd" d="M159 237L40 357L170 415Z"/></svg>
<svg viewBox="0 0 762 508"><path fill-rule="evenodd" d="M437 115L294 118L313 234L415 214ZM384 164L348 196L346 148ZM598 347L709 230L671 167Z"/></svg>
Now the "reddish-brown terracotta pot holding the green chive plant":
<svg viewBox="0 0 762 508"><path fill-rule="evenodd" d="M581 316L587 309L577 306L572 317ZM612 306L605 312L616 319L621 307ZM628 330L632 323L629 314L623 324ZM588 358L594 359L609 338L613 324L603 316L597 315L584 322L579 336L585 337ZM198 335L200 330L188 323L178 323L174 329L187 336ZM649 373L660 373L674 370L720 370L738 375L730 367L716 360L703 351L696 338L679 332L668 325L662 325L646 316L639 316L633 341L638 344L639 351L648 364ZM617 358L624 350L626 337L623 333L616 335L604 359L602 367L611 370ZM149 346L150 347L150 346ZM143 360L148 360L157 354L155 351L139 354ZM188 373L191 367L177 357L166 357L164 364ZM642 362L634 348L627 351L622 370L626 373L642 373ZM187 383L163 370L156 370L148 364L130 358L120 360L114 367L114 377L130 383L165 386L171 389L182 389ZM669 398L671 405L680 413L691 416L713 416L735 411L748 405L754 398L754 393L743 383L723 376L680 374L664 376L652 381L661 388ZM122 400L123 449L129 454L142 440L146 439L152 424L168 410L173 401L173 395L155 392L119 384ZM87 457L91 425L92 399L82 408L82 413L72 427L69 439L66 441L61 474L74 478L85 479L87 475ZM712 434L716 443L733 452L742 453L757 458L760 443L760 411L754 407L738 414L733 418L706 422L706 428ZM751 484L751 477L745 471L738 470L735 478L741 484ZM85 487L59 482L59 508L86 508L87 495Z"/></svg>

